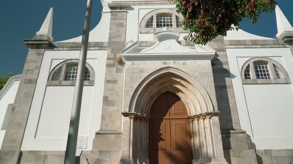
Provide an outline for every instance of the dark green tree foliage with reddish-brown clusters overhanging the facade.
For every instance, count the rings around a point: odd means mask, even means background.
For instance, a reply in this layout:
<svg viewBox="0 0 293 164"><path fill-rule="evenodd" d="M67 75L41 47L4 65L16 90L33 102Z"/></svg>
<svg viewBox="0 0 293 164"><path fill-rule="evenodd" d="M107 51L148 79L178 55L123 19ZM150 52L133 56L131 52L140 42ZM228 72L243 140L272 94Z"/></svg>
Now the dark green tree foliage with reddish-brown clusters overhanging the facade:
<svg viewBox="0 0 293 164"><path fill-rule="evenodd" d="M261 12L272 12L275 0L169 0L177 3L177 12L184 17L182 25L189 34L184 38L206 44L229 30L238 30L239 22L249 18L255 23ZM233 25L233 26L232 26Z"/></svg>

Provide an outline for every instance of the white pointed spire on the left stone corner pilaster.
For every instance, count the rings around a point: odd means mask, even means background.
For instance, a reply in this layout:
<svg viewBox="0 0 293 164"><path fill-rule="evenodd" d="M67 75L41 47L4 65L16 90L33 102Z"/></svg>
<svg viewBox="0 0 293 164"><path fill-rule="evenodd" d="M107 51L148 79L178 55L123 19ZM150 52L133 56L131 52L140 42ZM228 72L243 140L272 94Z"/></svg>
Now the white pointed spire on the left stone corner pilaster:
<svg viewBox="0 0 293 164"><path fill-rule="evenodd" d="M37 36L47 36L51 41L53 41L52 37L52 24L53 24L53 7L50 8L48 15L40 28L40 30L36 33Z"/></svg>

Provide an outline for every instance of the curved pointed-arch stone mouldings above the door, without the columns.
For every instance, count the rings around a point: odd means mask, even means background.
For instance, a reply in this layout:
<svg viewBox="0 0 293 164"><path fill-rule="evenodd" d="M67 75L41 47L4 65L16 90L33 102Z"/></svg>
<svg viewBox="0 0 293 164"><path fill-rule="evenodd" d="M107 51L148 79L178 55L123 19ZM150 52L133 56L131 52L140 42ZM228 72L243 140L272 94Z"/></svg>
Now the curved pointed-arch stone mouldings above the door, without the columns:
<svg viewBox="0 0 293 164"><path fill-rule="evenodd" d="M163 86L166 87L162 88ZM130 98L129 112L148 115L151 103L165 91L178 95L186 105L187 102L189 103L187 105L189 116L214 112L212 100L205 87L198 80L192 78L192 76L173 67L157 69L143 78L136 86ZM155 96L149 97L149 95ZM147 100L146 98L150 99ZM146 106L148 107L147 111L142 111L142 107Z"/></svg>

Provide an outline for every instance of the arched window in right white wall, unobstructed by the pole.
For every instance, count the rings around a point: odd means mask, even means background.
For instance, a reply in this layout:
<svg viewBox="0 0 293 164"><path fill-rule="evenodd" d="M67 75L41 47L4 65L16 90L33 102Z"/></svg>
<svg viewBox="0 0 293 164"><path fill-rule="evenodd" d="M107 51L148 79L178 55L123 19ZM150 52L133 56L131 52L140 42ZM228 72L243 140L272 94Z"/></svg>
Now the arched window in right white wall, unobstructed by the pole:
<svg viewBox="0 0 293 164"><path fill-rule="evenodd" d="M275 60L256 57L241 69L242 83L291 83L285 68Z"/></svg>

